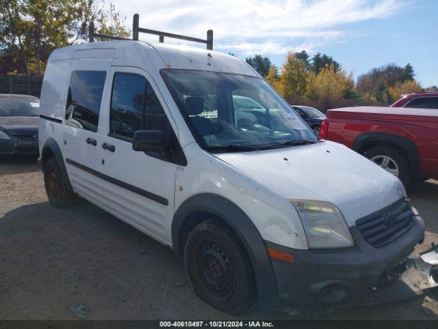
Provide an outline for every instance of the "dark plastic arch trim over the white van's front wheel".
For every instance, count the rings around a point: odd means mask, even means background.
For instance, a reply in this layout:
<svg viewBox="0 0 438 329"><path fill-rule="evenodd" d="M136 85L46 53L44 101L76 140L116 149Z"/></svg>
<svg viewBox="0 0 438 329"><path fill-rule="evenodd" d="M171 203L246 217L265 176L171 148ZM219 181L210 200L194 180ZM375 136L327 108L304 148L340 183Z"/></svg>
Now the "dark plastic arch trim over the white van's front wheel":
<svg viewBox="0 0 438 329"><path fill-rule="evenodd" d="M259 306L279 304L276 280L266 243L248 215L229 199L213 193L200 193L183 202L172 220L172 248L183 255L185 239L194 226L216 217L235 232L244 245L253 267Z"/></svg>

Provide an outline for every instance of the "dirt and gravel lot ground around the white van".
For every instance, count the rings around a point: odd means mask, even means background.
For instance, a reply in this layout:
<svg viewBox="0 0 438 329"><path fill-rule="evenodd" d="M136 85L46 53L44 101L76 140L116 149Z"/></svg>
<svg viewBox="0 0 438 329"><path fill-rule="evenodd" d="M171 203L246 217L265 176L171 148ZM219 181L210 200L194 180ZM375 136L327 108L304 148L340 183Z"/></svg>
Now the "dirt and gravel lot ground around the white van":
<svg viewBox="0 0 438 329"><path fill-rule="evenodd" d="M410 197L426 221L420 250L438 242L438 182L415 186ZM438 300L438 291L428 295ZM247 317L432 319L423 300L296 317L254 310ZM88 202L51 207L35 159L0 160L0 319L75 319L70 306L81 303L89 319L229 318L192 293L170 249Z"/></svg>

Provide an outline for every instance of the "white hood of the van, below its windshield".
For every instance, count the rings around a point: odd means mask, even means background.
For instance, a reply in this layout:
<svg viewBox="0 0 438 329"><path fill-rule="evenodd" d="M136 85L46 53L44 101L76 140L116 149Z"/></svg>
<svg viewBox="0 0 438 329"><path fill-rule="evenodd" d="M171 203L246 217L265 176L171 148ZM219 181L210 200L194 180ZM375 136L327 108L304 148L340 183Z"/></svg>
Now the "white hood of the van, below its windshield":
<svg viewBox="0 0 438 329"><path fill-rule="evenodd" d="M398 178L344 145L329 141L214 156L281 197L335 204L349 226L406 197Z"/></svg>

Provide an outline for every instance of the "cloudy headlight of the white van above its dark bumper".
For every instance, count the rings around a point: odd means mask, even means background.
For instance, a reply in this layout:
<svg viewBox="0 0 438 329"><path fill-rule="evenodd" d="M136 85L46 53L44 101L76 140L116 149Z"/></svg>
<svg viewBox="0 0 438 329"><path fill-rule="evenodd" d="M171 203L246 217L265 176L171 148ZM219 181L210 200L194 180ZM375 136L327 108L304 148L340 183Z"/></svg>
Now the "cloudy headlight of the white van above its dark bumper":
<svg viewBox="0 0 438 329"><path fill-rule="evenodd" d="M344 216L333 204L301 199L288 200L300 215L309 249L355 245Z"/></svg>

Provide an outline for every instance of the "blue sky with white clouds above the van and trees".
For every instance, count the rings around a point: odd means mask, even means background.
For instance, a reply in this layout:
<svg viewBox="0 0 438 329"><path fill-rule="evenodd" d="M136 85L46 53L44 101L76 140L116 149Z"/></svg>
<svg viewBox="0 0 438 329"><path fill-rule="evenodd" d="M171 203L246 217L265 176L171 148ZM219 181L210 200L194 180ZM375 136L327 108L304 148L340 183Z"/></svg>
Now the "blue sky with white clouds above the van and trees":
<svg viewBox="0 0 438 329"><path fill-rule="evenodd" d="M108 1L108 5L110 0ZM131 26L206 38L239 58L261 54L281 66L288 50L326 53L355 77L389 63L413 66L438 85L438 0L114 0ZM127 5L129 3L129 5ZM157 42L140 34L140 40ZM194 47L201 44L168 40Z"/></svg>

